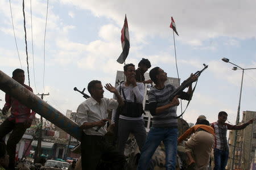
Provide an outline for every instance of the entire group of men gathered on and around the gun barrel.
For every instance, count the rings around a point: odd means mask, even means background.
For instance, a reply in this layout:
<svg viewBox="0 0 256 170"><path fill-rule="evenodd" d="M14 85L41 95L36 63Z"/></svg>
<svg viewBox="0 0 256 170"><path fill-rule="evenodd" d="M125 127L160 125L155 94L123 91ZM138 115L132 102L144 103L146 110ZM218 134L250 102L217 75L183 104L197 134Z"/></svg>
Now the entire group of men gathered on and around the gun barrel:
<svg viewBox="0 0 256 170"><path fill-rule="evenodd" d="M187 92L180 92L179 96L175 96L170 101L170 95L176 87L172 84L166 84L167 73L160 67L151 69L150 80L145 80L144 73L150 67L150 61L144 58L139 62L137 70L135 70L133 63L125 65L123 67L125 82L119 84L117 88L113 87L112 84L105 86L106 90L115 95L114 99L104 97L104 88L99 80L89 82L88 91L91 97L77 108L76 122L82 129L82 169L97 169L101 160L112 163L112 169L126 169L127 163L123 152L130 133L134 135L141 151L137 169L148 168L152 155L161 142L164 143L166 151L166 169L175 169L177 144L192 133L195 134L185 144L189 167L206 169L210 152L214 147L214 169L225 169L228 160L226 131L243 129L254 119L240 126L229 125L225 123L228 114L220 112L218 121L211 126L205 117L199 118L197 125L188 129L177 139L176 108L179 105L179 99L191 100L192 84L188 87ZM197 78L197 76L191 75L192 82L195 82ZM32 91L32 88L24 84L23 70L14 70L13 79ZM147 134L144 128L142 107L144 84L153 82L155 86L148 91L149 110L153 119L152 127ZM6 148L10 155L8 169L14 169L16 143L22 138L26 129L31 126L35 113L6 94L3 114L6 114L10 108L11 116L0 125L0 139L13 130ZM113 110L112 121L108 119L108 109ZM107 133L106 122L109 122L110 126L117 130L116 146L106 142L104 137Z"/></svg>

